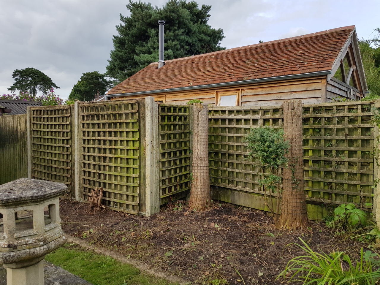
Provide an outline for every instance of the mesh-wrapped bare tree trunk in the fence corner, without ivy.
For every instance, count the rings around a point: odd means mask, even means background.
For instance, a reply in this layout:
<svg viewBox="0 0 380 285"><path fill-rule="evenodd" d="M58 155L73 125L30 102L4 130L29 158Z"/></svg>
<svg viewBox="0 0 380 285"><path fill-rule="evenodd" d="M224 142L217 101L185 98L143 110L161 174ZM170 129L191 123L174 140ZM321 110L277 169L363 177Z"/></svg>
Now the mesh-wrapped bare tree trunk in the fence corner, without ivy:
<svg viewBox="0 0 380 285"><path fill-rule="evenodd" d="M193 181L189 209L203 211L211 203L209 174L209 116L207 104L195 103L193 130Z"/></svg>

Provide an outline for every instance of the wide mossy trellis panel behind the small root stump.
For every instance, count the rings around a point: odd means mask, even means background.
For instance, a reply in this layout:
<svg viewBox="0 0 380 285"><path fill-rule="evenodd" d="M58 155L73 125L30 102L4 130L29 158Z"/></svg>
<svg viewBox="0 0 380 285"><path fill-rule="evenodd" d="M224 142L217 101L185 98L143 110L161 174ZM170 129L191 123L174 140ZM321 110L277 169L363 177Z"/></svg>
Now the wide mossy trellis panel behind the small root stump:
<svg viewBox="0 0 380 285"><path fill-rule="evenodd" d="M117 211L139 211L139 120L136 100L79 105L81 186L103 187L103 204Z"/></svg>

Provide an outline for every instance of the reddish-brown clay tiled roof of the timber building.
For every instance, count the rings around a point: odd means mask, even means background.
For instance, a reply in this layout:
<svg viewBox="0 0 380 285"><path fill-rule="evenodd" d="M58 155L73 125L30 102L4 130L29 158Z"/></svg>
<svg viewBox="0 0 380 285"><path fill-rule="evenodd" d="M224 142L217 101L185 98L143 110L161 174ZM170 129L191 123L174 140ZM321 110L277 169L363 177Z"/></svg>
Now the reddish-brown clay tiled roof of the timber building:
<svg viewBox="0 0 380 285"><path fill-rule="evenodd" d="M224 51L154 62L107 95L329 71L355 30L341 27Z"/></svg>

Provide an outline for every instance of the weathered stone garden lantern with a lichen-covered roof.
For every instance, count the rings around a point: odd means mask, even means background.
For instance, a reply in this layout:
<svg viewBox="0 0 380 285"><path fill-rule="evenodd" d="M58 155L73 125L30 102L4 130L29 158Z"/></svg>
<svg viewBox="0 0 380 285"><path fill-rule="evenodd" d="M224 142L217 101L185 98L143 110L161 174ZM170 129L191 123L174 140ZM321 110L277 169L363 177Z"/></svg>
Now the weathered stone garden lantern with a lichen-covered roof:
<svg viewBox="0 0 380 285"><path fill-rule="evenodd" d="M44 256L65 243L59 197L66 190L63 183L28 178L0 185L0 264L7 285L44 284Z"/></svg>

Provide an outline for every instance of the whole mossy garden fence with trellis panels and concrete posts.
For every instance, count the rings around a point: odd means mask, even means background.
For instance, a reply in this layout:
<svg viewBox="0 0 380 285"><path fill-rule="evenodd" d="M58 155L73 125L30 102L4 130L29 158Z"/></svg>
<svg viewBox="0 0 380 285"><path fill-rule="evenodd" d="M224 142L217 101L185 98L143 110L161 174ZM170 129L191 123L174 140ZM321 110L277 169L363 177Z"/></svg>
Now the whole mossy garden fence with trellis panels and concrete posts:
<svg viewBox="0 0 380 285"><path fill-rule="evenodd" d="M380 168L374 162L375 107L374 102L304 106L310 218L323 218L341 203L355 203L366 211L376 204ZM155 214L160 204L184 198L191 187L192 118L191 106L157 105L152 97L32 107L28 116L1 117L0 183L25 176L22 150L28 125L29 177L66 183L70 195L82 201L92 189L103 187L103 203L111 209ZM260 169L247 158L243 139L250 128L282 128L282 120L279 106L209 108L215 199L266 209Z"/></svg>

